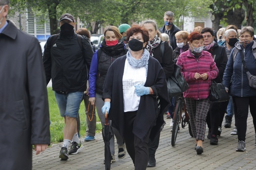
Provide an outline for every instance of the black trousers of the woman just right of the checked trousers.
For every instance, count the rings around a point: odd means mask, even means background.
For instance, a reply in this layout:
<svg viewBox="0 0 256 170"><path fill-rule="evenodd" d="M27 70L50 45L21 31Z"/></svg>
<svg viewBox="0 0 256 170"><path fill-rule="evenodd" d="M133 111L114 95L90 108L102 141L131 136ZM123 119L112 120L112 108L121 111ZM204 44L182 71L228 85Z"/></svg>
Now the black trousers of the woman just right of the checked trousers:
<svg viewBox="0 0 256 170"><path fill-rule="evenodd" d="M228 105L228 101L211 102L210 110L206 117L207 126L212 131L211 135L217 136L218 128L222 127L222 120L224 118L227 105Z"/></svg>

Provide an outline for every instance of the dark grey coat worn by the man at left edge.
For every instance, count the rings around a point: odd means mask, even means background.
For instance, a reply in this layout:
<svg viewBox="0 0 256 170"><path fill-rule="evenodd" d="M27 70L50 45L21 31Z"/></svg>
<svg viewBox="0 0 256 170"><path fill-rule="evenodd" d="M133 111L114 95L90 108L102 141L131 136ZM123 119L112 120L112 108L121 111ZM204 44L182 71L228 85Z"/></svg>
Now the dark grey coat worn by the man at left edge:
<svg viewBox="0 0 256 170"><path fill-rule="evenodd" d="M0 33L0 170L31 170L32 144L50 144L38 40L7 21Z"/></svg>

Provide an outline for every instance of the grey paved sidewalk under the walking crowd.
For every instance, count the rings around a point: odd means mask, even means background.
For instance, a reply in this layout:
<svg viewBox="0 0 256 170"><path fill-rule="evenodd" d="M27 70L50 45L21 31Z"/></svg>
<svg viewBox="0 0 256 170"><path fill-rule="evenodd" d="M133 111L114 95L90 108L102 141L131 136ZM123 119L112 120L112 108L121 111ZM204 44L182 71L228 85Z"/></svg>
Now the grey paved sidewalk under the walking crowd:
<svg viewBox="0 0 256 170"><path fill-rule="evenodd" d="M246 134L246 151L236 152L237 136L230 135L234 127L234 117L231 128L224 128L218 145L210 145L210 140L203 143L204 152L196 155L194 139L190 137L188 127L180 130L175 146L171 146L170 119L165 119L166 125L160 136L160 145L156 153L157 166L147 170L255 170L256 146L255 131L252 116L249 113ZM208 128L206 128L206 136ZM205 137L206 138L206 137ZM67 161L60 161L59 152L62 143L48 148L39 155L33 152L33 170L104 170L104 142L102 135L97 134L96 140L84 142L85 146L76 155L70 155ZM116 145L116 162L111 164L112 170L133 170L134 166L127 154L118 160ZM22 168L21 168L22 169Z"/></svg>

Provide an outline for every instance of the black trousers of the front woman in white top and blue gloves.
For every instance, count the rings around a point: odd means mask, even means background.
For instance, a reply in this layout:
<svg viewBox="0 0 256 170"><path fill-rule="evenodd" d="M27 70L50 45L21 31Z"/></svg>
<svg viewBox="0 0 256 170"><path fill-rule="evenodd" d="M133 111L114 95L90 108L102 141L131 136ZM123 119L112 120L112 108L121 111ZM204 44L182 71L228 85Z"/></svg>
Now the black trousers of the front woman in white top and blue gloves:
<svg viewBox="0 0 256 170"><path fill-rule="evenodd" d="M124 140L126 143L126 149L130 155L134 164L135 170L146 170L148 165L149 157L149 136L150 131L147 133L145 140L142 141L136 137L133 133L133 122L135 120L137 112L126 112L125 113L125 134ZM143 126L143 125L142 125Z"/></svg>

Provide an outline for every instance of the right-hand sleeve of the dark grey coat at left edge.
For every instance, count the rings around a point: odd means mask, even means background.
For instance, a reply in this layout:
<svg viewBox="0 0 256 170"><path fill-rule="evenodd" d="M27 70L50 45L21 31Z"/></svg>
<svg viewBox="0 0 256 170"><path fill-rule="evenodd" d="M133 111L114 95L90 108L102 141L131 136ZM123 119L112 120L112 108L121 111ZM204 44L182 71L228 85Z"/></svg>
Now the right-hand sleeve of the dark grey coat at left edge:
<svg viewBox="0 0 256 170"><path fill-rule="evenodd" d="M50 144L49 106L41 48L36 38L29 42L28 91L31 110L31 144Z"/></svg>

